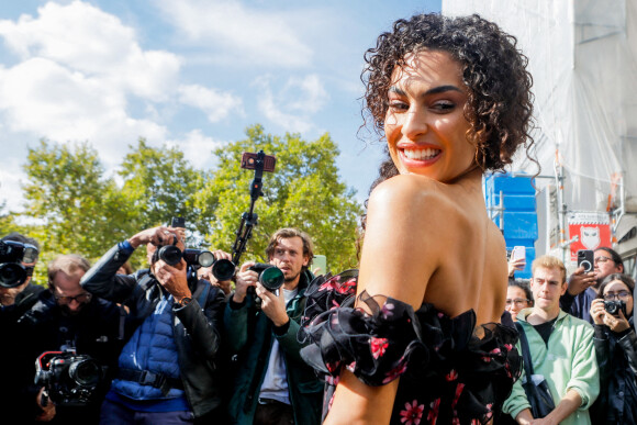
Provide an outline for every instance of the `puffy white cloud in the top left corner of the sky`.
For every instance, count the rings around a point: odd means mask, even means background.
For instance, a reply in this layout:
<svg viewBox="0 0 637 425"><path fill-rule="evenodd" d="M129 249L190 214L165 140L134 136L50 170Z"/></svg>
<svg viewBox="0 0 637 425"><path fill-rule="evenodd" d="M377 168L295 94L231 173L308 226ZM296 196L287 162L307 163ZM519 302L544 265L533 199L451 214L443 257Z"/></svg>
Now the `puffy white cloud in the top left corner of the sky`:
<svg viewBox="0 0 637 425"><path fill-rule="evenodd" d="M48 2L37 11L37 19L0 21L0 35L23 59L51 59L154 101L167 100L165 91L176 87L179 57L143 51L135 32L119 18L80 1Z"/></svg>

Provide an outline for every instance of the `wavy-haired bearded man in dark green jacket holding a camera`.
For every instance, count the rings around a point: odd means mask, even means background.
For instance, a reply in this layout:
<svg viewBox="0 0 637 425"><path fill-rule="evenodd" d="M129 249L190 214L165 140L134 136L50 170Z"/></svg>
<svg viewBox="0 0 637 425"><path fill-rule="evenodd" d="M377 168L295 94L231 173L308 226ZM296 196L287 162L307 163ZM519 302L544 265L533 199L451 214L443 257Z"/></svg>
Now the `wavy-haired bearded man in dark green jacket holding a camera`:
<svg viewBox="0 0 637 425"><path fill-rule="evenodd" d="M297 340L305 289L313 279L308 270L312 241L297 228L281 228L266 255L283 272L282 287L266 289L248 261L225 310L228 343L238 359L228 413L234 424L318 424L323 385L301 359ZM260 307L248 288L255 289Z"/></svg>

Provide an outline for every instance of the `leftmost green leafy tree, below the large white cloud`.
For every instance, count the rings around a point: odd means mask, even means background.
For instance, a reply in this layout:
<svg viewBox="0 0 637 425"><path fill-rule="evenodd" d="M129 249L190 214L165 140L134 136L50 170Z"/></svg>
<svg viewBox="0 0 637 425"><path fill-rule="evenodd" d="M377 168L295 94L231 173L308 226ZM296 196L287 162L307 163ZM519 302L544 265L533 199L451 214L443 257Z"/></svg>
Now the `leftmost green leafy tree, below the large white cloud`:
<svg viewBox="0 0 637 425"><path fill-rule="evenodd" d="M58 254L99 258L131 233L132 209L88 143L29 149L23 184L29 236L42 245L41 264Z"/></svg>

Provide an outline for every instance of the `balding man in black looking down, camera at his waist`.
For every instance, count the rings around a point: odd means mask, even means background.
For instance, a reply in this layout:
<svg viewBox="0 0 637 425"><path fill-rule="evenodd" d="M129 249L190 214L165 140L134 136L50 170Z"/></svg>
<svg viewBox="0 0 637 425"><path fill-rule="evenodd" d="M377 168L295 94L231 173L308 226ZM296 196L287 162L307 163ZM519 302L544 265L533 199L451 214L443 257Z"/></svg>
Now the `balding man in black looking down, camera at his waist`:
<svg viewBox="0 0 637 425"><path fill-rule="evenodd" d="M20 347L30 359L31 368L24 377L27 398L34 406L36 422L52 424L97 424L99 410L109 384L109 370L113 371L122 347L121 321L123 311L114 303L91 295L80 286L80 278L90 264L78 255L63 255L48 265L48 291L40 294L38 301L18 322L24 344ZM46 351L60 351L52 357L64 358L70 354L90 356L99 365L101 376L98 387L90 396L79 400L77 395L64 401L56 391L43 384L33 384L36 358ZM69 362L68 359L64 360ZM46 370L48 359L43 361ZM66 382L65 392L79 389L75 381L65 381L62 373L52 381Z"/></svg>

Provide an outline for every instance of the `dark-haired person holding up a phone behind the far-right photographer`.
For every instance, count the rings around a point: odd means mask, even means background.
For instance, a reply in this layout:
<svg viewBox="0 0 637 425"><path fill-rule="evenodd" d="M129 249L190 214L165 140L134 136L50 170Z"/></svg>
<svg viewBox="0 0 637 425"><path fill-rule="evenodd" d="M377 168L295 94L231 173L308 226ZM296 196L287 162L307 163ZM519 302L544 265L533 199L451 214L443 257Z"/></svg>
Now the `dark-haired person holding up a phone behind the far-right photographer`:
<svg viewBox="0 0 637 425"><path fill-rule="evenodd" d="M560 298L560 307L575 317L593 324L591 303L597 297L602 281L612 273L623 273L622 257L608 247L595 249L595 268L585 273L584 268L578 268L569 278L569 288Z"/></svg>

